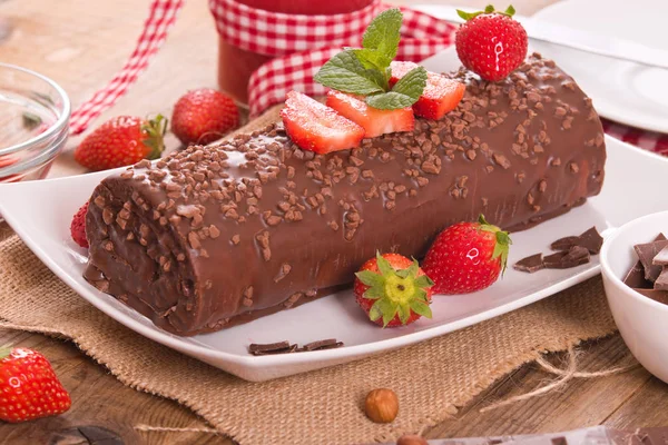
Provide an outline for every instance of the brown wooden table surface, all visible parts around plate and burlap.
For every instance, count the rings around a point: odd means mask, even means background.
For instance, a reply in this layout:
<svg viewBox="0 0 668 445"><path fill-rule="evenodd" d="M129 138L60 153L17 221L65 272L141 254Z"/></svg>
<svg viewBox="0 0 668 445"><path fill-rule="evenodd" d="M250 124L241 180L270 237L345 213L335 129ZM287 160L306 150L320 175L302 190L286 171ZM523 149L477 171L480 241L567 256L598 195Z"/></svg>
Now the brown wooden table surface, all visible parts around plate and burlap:
<svg viewBox="0 0 668 445"><path fill-rule="evenodd" d="M515 0L513 3L520 13L531 14L554 1ZM451 2L482 7L487 0ZM177 26L149 69L97 123L125 112L170 115L171 103L187 89L215 87L216 34L206 3L205 0L186 2ZM147 4L148 0L0 0L0 61L51 77L65 87L76 106L120 68L135 44ZM76 138L71 139L69 147L77 142ZM174 145L174 140L169 142ZM59 158L51 176L79 171L68 150ZM1 443L88 443L77 428L90 426L106 428L127 444L232 443L204 433L136 431L135 426L140 424L177 428L207 426L175 402L124 386L68 342L0 329L0 344L43 352L73 399L66 415L18 426L0 425ZM583 349L581 365L586 369L628 362L628 349L619 336L587 344ZM642 368L609 377L574 379L564 389L549 395L479 413L483 400L489 403L523 394L551 378L537 365L527 365L425 435L435 438L559 432L597 424L620 428L668 425L668 411L662 409L668 405L668 386Z"/></svg>

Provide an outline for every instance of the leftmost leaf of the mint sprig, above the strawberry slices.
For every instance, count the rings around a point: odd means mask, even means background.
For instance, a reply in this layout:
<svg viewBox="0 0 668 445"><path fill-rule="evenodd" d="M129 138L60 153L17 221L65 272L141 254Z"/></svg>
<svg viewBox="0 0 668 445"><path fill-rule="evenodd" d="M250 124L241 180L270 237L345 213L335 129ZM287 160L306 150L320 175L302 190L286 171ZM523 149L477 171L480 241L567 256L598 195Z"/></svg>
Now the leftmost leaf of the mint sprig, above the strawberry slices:
<svg viewBox="0 0 668 445"><path fill-rule="evenodd" d="M332 89L353 95L373 95L384 91L381 72L364 68L353 50L331 58L315 75L315 81Z"/></svg>

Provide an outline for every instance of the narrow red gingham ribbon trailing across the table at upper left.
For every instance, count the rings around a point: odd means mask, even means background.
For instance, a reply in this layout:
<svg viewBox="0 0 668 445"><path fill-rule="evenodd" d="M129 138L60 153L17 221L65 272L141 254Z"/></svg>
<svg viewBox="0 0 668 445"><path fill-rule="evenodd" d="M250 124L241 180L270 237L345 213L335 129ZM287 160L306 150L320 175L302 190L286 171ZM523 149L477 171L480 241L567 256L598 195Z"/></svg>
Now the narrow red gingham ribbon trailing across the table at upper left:
<svg viewBox="0 0 668 445"><path fill-rule="evenodd" d="M184 0L153 0L148 19L144 22L144 31L137 46L122 69L111 81L98 90L90 99L72 111L70 134L79 135L88 123L100 116L126 93L130 85L148 67L148 62L167 38L169 28L176 22L176 14L184 6Z"/></svg>

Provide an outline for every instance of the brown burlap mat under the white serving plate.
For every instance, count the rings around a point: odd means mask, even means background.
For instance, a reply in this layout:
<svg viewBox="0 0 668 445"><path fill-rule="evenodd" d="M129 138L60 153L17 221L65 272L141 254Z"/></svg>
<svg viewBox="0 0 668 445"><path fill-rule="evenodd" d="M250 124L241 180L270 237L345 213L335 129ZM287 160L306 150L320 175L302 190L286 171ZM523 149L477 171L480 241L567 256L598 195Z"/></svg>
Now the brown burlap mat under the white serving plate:
<svg viewBox="0 0 668 445"><path fill-rule="evenodd" d="M412 347L253 384L116 323L56 278L16 236L0 243L0 318L71 338L124 384L177 400L240 444L391 441L454 415L456 407L541 353L615 330L600 278L593 278ZM399 395L400 415L391 425L373 424L362 411L364 396L377 387Z"/></svg>

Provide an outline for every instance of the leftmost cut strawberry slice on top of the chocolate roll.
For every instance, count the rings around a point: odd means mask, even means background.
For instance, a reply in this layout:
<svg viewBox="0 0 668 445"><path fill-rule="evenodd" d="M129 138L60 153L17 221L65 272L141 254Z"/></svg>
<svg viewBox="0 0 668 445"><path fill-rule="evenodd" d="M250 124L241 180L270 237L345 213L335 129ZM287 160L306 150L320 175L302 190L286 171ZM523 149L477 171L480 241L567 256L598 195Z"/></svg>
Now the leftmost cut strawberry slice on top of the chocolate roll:
<svg viewBox="0 0 668 445"><path fill-rule="evenodd" d="M364 138L357 123L301 92L287 93L281 117L297 146L320 155L357 147Z"/></svg>

